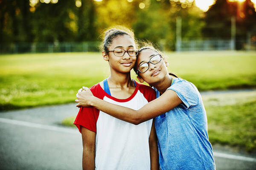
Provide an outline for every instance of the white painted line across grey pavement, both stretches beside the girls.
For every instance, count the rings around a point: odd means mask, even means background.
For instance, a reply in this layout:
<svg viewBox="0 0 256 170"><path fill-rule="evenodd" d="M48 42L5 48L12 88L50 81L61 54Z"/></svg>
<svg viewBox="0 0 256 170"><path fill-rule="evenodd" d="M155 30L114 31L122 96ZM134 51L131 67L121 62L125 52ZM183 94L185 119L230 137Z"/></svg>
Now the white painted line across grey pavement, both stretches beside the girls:
<svg viewBox="0 0 256 170"><path fill-rule="evenodd" d="M20 120L0 118L0 122L9 123L9 124L13 124L13 125L21 125L21 126L26 126L26 127L35 127L35 128L39 128L39 129L53 130L53 131L58 131L58 132L79 134L79 131L75 130L75 129L50 126L50 125L41 125L41 124L37 124L37 123L24 122L24 121L20 121ZM227 154L227 153L213 152L213 155L215 157L221 157L221 158L227 158L227 159L236 159L236 160L241 160L241 161L256 162L255 158L250 158L250 157L245 157L245 156L236 156L236 155Z"/></svg>

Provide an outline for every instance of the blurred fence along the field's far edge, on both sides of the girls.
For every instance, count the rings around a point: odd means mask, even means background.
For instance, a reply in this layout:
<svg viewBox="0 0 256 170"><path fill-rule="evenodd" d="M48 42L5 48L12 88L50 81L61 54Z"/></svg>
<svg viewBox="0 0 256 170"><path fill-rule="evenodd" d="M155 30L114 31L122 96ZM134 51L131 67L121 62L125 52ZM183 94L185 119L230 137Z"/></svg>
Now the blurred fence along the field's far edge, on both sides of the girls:
<svg viewBox="0 0 256 170"><path fill-rule="evenodd" d="M234 47L235 45L235 47ZM59 42L59 43L12 43L0 45L0 53L57 53L99 51L99 42ZM256 50L256 41L237 40L181 40L176 43L176 51L219 51Z"/></svg>

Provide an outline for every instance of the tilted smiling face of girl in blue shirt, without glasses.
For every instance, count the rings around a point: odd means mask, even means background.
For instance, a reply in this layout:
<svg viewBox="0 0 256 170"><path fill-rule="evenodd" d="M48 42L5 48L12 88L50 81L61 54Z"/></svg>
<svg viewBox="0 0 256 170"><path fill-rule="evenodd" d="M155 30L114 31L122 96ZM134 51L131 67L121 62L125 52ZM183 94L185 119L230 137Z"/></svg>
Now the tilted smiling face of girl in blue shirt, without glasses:
<svg viewBox="0 0 256 170"><path fill-rule="evenodd" d="M151 49L145 49L141 51L140 54L137 56L136 68L138 69L139 66L148 62L152 57L154 57L157 54L157 51ZM166 77L166 75L168 75L166 62L164 62L163 59L161 59L161 61L157 64L152 64L150 62L148 64L149 68L147 71L145 71L144 73L138 72L138 76L141 77L148 84L152 85L154 83L157 83L163 80Z"/></svg>

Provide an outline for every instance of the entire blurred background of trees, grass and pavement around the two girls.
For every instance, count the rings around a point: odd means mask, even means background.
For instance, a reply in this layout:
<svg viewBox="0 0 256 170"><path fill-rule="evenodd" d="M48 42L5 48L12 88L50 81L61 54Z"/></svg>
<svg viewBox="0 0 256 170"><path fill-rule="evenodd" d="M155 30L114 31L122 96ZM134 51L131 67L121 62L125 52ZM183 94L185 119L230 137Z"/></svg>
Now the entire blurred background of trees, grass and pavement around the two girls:
<svg viewBox="0 0 256 170"><path fill-rule="evenodd" d="M116 25L196 85L217 170L255 169L256 0L0 0L0 170L81 169L74 100Z"/></svg>

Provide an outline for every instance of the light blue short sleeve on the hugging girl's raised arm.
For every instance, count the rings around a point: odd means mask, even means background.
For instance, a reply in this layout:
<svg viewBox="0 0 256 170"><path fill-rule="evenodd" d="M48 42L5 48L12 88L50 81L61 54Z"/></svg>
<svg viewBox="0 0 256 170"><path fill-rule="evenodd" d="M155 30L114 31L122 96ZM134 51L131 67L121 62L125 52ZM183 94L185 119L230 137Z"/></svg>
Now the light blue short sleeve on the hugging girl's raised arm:
<svg viewBox="0 0 256 170"><path fill-rule="evenodd" d="M177 96L183 102L185 108L194 106L198 104L199 97L196 87L186 80L180 80L173 83L167 90L173 90L176 92Z"/></svg>

